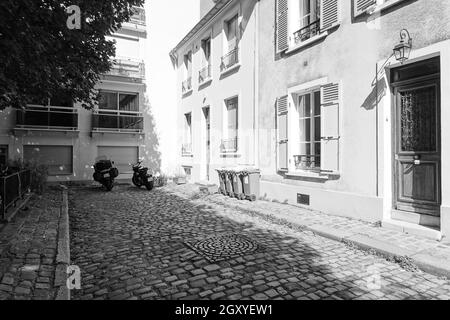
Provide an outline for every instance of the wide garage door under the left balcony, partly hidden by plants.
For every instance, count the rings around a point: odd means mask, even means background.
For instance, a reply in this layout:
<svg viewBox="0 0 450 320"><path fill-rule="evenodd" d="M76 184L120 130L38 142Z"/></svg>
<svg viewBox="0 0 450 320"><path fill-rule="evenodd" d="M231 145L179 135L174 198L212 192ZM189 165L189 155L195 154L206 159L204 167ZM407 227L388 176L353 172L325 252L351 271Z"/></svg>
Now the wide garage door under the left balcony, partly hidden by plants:
<svg viewBox="0 0 450 320"><path fill-rule="evenodd" d="M25 161L48 166L51 176L73 173L72 146L24 146Z"/></svg>

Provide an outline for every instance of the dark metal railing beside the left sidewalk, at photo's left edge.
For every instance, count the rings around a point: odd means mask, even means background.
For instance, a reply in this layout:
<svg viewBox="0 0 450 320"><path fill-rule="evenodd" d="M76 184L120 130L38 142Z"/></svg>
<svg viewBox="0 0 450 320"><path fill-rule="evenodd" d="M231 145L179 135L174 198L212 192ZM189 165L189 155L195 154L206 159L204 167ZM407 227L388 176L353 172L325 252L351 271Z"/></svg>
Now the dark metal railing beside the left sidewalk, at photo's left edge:
<svg viewBox="0 0 450 320"><path fill-rule="evenodd" d="M6 212L23 199L31 187L31 171L22 170L8 176L0 177L0 214L6 219Z"/></svg>

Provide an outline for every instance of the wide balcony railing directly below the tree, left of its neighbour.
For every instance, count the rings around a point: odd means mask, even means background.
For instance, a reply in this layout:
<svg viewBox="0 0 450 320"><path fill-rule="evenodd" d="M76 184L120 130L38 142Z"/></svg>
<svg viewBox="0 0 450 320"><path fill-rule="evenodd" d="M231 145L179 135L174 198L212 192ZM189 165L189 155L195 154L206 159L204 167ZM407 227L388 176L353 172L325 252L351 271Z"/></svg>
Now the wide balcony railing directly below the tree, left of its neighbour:
<svg viewBox="0 0 450 320"><path fill-rule="evenodd" d="M16 115L16 128L20 129L78 129L78 111L74 108L29 105L17 110Z"/></svg>

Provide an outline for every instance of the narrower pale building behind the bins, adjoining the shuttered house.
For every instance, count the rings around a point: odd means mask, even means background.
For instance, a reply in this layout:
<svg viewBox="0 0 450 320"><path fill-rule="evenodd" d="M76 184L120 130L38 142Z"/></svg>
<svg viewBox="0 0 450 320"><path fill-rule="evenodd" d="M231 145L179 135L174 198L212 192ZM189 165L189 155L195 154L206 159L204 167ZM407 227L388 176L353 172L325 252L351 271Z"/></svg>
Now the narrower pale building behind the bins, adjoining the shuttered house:
<svg viewBox="0 0 450 320"><path fill-rule="evenodd" d="M256 3L202 1L202 12L212 9L170 53L180 170L192 182L217 182L217 168L255 164Z"/></svg>

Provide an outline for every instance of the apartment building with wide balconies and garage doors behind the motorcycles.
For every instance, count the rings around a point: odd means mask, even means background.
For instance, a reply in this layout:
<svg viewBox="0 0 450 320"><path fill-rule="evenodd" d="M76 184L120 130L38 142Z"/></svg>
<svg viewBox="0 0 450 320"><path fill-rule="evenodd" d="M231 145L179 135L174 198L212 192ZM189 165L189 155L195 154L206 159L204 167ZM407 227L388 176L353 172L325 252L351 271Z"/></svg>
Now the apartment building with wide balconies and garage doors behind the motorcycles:
<svg viewBox="0 0 450 320"><path fill-rule="evenodd" d="M0 163L7 159L35 160L49 167L50 181L89 181L95 158L115 161L121 178L129 163L146 150L144 132L145 10L135 8L131 20L110 39L116 57L109 74L98 84L101 98L95 110L73 104L64 95L35 101L25 110L7 109L0 119Z"/></svg>

